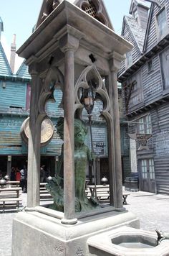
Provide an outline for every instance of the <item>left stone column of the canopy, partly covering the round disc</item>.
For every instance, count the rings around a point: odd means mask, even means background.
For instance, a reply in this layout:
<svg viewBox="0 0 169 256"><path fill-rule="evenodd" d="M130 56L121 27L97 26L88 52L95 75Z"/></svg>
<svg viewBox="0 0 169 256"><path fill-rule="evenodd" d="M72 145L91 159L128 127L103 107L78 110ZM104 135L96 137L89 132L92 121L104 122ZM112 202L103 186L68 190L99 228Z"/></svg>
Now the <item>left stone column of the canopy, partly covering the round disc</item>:
<svg viewBox="0 0 169 256"><path fill-rule="evenodd" d="M38 101L41 82L36 69L29 68L32 76L32 91L29 118L28 177L27 177L27 208L32 210L39 206L40 182L40 137L41 120L39 120Z"/></svg>

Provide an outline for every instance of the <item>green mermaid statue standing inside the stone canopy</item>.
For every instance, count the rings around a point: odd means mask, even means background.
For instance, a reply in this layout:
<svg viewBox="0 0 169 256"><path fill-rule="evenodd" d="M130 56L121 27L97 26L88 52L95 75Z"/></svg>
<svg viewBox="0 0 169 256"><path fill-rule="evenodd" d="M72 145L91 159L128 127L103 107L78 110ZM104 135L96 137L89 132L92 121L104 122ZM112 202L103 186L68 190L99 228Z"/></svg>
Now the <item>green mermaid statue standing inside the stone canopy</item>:
<svg viewBox="0 0 169 256"><path fill-rule="evenodd" d="M63 140L64 131L64 119L60 117L57 122L57 133ZM84 145L85 136L87 134L87 128L84 123L79 119L74 119L74 187L75 187L75 211L89 211L94 209L99 204L94 197L87 198L85 193L85 180L86 180L86 166L92 163L94 156L90 152L90 149ZM63 150L59 157L57 165L57 173L52 180L48 181L47 190L54 198L54 204L52 209L57 211L64 210L63 200Z"/></svg>

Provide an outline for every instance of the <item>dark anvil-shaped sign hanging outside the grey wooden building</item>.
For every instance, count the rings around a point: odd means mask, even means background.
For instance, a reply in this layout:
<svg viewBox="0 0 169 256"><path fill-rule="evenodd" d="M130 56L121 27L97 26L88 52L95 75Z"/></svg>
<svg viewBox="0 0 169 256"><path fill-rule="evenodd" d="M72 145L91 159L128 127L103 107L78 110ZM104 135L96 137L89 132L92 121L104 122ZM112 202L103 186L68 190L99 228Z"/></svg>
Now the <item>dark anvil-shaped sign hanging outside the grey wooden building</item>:
<svg viewBox="0 0 169 256"><path fill-rule="evenodd" d="M135 140L140 144L140 147L137 150L149 150L148 140L150 140L152 134L129 133L128 136L130 139Z"/></svg>

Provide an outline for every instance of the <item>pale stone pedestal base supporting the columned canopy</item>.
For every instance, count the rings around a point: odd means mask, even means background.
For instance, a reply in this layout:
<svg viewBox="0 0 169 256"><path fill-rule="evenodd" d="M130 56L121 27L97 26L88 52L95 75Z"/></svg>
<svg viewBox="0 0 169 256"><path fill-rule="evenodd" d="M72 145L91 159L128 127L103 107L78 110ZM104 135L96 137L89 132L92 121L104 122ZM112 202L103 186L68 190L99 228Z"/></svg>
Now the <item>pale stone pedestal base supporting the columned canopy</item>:
<svg viewBox="0 0 169 256"><path fill-rule="evenodd" d="M16 215L12 256L87 256L89 237L123 225L140 227L139 220L127 211L84 216L74 225L64 225L54 214L47 214L23 211Z"/></svg>

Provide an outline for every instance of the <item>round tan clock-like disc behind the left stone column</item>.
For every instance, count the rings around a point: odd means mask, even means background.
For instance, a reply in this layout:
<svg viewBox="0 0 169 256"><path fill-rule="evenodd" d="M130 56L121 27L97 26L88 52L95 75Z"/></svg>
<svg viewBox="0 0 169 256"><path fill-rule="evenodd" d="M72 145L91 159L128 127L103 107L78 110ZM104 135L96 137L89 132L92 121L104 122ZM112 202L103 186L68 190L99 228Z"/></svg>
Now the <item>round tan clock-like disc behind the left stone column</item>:
<svg viewBox="0 0 169 256"><path fill-rule="evenodd" d="M27 143L29 138L29 117L26 120L24 120L21 126L21 134L24 135L22 137L24 141L26 140ZM41 124L41 144L47 144L47 142L49 142L49 140L52 139L53 134L54 127L52 121L49 118L44 119L44 121Z"/></svg>

